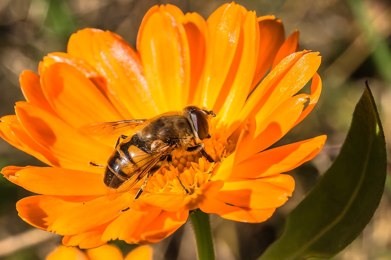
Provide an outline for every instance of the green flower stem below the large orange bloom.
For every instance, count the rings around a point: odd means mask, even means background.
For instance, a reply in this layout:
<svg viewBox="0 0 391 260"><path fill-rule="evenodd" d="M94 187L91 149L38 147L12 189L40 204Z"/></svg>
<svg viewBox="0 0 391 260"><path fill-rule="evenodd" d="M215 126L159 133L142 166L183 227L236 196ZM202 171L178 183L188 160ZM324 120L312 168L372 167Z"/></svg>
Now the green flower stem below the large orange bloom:
<svg viewBox="0 0 391 260"><path fill-rule="evenodd" d="M193 225L195 243L197 244L197 259L215 260L209 215L201 210L194 210L190 214L190 221Z"/></svg>

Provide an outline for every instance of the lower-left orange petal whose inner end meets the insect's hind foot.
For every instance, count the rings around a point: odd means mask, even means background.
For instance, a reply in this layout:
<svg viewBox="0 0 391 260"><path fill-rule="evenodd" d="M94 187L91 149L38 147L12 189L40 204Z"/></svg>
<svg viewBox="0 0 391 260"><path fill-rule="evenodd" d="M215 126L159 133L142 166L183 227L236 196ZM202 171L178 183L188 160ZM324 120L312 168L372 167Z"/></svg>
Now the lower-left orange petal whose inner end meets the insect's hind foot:
<svg viewBox="0 0 391 260"><path fill-rule="evenodd" d="M127 205L128 200L125 196L112 201L104 196L83 204L79 203L72 210L61 214L48 227L48 231L61 235L83 233L117 218L121 215L119 211L125 209Z"/></svg>

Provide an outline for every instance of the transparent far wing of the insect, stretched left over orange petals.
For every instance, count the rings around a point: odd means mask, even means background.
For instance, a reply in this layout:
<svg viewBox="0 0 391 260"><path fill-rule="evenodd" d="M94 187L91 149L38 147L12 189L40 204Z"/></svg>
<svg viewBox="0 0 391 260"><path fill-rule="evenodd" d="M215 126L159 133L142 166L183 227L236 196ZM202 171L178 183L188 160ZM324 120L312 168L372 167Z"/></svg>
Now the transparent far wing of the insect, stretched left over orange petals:
<svg viewBox="0 0 391 260"><path fill-rule="evenodd" d="M142 125L147 119L125 120L117 122L97 123L81 126L77 129L82 134L91 136L121 135L136 126Z"/></svg>

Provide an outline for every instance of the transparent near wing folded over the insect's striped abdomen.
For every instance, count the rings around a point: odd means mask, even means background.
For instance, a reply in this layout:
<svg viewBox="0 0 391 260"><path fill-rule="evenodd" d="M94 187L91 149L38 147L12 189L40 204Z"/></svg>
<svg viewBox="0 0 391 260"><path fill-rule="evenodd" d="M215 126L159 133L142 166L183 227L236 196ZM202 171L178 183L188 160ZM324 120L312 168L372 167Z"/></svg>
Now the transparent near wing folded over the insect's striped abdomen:
<svg viewBox="0 0 391 260"><path fill-rule="evenodd" d="M161 146L156 151L151 151L146 155L140 155L143 156L144 158L142 158L142 160L137 162L137 164L140 164L140 162L142 163L142 166L140 166L140 168L138 168L137 170L135 169L133 164L127 164L121 167L121 170L127 173L127 178L129 179L124 182L124 179L121 178L121 176L114 176L109 185L110 189L108 192L108 198L110 200L113 200L118 196L121 196L125 192L129 191L129 189L135 186L136 183L138 183L140 180L143 180L145 175L147 175L147 173L151 171L151 169L154 166L156 166L156 164L164 160L165 157L169 155L174 149L175 149L174 146L167 144ZM136 156L136 157L140 157L140 156ZM133 157L133 159L136 159L136 157ZM119 185L120 187L118 187ZM114 188L114 187L118 187L118 188Z"/></svg>

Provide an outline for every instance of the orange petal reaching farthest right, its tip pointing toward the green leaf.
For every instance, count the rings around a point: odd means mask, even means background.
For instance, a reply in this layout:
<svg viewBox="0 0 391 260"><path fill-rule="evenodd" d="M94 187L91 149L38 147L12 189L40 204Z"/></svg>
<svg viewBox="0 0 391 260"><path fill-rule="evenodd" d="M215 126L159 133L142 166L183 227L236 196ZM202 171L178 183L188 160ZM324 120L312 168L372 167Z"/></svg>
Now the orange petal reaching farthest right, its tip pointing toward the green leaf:
<svg viewBox="0 0 391 260"><path fill-rule="evenodd" d="M231 177L258 178L290 171L311 160L322 149L326 135L257 153L241 162Z"/></svg>

